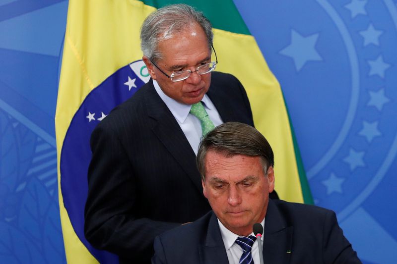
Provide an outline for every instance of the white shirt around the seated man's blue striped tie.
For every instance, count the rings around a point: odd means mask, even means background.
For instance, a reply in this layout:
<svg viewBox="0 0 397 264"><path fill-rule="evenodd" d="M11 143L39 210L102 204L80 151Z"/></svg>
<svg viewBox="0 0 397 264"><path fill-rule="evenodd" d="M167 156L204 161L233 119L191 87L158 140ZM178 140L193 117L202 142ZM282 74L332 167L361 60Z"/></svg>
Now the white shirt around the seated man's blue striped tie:
<svg viewBox="0 0 397 264"><path fill-rule="evenodd" d="M241 247L235 243L236 239L239 235L236 235L229 229L227 229L218 219L220 233L222 235L223 244L225 245L227 259L229 260L229 264L239 264L241 255L243 254L243 250ZM265 226L265 218L261 222L262 226ZM248 236L255 236L254 233L249 234ZM264 244L264 236L261 238L262 245ZM259 249L258 242L255 240L254 245L251 250L252 259L255 264L259 264Z"/></svg>

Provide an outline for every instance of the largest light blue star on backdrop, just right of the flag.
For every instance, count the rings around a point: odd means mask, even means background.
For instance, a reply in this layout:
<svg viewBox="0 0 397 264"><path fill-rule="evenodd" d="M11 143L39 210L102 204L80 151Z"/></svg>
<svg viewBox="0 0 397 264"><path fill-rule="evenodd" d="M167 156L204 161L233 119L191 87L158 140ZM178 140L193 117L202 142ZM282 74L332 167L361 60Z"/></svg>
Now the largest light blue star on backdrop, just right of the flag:
<svg viewBox="0 0 397 264"><path fill-rule="evenodd" d="M300 71L308 61L321 61L323 58L317 52L315 46L319 33L302 36L295 30L291 30L291 43L279 53L294 60L296 71Z"/></svg>

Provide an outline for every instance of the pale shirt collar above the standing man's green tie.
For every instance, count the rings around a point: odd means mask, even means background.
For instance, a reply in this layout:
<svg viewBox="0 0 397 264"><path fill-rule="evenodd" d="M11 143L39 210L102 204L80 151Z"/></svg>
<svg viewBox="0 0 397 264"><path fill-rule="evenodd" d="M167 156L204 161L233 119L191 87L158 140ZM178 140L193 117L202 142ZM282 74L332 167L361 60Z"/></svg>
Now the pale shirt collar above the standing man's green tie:
<svg viewBox="0 0 397 264"><path fill-rule="evenodd" d="M171 97L164 94L163 90L161 90L156 80L153 80L153 86L157 94L160 96L161 100L163 100L163 102L168 107L168 109L170 109L175 119L177 119L178 122L180 123L184 123L186 118L188 117L190 108L192 106L179 103L175 99L172 99ZM213 108L213 104L211 103L211 101L209 100L206 94L202 98L201 102L203 103L204 107L206 107L207 109L211 110Z"/></svg>

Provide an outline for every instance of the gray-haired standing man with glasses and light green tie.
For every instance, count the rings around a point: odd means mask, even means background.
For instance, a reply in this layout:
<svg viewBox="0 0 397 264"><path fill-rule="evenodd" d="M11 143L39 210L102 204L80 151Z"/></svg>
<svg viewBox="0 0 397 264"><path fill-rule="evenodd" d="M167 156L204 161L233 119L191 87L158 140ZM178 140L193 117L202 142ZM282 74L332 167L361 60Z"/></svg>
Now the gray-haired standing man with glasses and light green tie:
<svg viewBox="0 0 397 264"><path fill-rule="evenodd" d="M200 138L223 122L254 125L241 83L213 71L212 38L188 5L150 14L141 48L151 79L92 133L85 235L121 263L150 263L155 236L210 211L195 165Z"/></svg>

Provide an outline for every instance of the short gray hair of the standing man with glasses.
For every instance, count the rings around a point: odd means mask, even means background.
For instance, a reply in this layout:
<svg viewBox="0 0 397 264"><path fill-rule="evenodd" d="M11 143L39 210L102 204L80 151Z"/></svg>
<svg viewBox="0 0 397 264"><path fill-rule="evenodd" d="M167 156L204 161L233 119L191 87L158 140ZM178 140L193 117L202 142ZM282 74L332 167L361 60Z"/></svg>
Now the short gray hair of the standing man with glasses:
<svg viewBox="0 0 397 264"><path fill-rule="evenodd" d="M162 57L157 49L161 41L170 39L195 24L199 24L204 30L208 49L211 50L212 26L202 12L187 4L172 4L157 9L146 17L140 29L143 55L157 61Z"/></svg>

